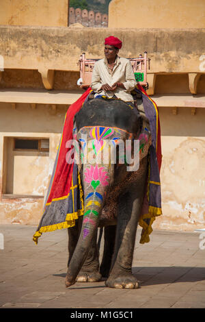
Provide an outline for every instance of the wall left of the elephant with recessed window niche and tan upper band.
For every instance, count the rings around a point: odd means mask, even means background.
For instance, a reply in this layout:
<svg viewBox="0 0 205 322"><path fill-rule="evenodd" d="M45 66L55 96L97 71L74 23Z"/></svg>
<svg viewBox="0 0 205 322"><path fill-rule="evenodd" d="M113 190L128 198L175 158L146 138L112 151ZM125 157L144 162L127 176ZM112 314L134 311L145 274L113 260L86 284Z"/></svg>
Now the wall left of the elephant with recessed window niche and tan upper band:
<svg viewBox="0 0 205 322"><path fill-rule="evenodd" d="M67 110L0 103L0 223L38 224ZM49 152L14 151L13 138L49 139Z"/></svg>

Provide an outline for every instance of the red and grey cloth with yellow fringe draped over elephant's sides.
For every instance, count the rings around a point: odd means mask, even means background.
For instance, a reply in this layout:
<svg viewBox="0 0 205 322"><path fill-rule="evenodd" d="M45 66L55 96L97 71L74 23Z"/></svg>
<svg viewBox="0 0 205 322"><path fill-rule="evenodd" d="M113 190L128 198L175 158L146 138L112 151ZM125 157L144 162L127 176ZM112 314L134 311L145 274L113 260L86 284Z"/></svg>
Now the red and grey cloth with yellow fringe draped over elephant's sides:
<svg viewBox="0 0 205 322"><path fill-rule="evenodd" d="M66 147L66 142L72 140L74 115L79 112L83 103L87 101L91 88L88 88L83 95L73 103L65 116L64 127L53 166L48 192L44 202L42 218L33 235L33 241L37 244L38 238L43 232L51 232L62 228L69 228L75 225L75 220L83 215L83 190L81 187L81 177L77 164L68 164L66 155L70 148ZM156 104L146 92L137 85L135 92L141 92L143 108L146 117L150 122L152 145L149 149L149 175L147 189L144 195L139 225L142 227L140 243L148 243L149 235L152 232L152 223L161 212L161 134L159 113Z"/></svg>

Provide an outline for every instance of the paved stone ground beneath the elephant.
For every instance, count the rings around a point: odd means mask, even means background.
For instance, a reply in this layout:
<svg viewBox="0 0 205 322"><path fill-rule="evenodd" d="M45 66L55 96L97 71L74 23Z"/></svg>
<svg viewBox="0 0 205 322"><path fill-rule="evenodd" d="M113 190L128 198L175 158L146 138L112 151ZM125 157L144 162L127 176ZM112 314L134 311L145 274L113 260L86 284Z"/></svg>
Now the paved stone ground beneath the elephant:
<svg viewBox="0 0 205 322"><path fill-rule="evenodd" d="M155 230L150 243L141 245L138 230L133 273L140 288L119 290L105 287L105 281L65 288L67 230L43 234L37 246L35 230L0 225L1 308L205 308L200 233Z"/></svg>

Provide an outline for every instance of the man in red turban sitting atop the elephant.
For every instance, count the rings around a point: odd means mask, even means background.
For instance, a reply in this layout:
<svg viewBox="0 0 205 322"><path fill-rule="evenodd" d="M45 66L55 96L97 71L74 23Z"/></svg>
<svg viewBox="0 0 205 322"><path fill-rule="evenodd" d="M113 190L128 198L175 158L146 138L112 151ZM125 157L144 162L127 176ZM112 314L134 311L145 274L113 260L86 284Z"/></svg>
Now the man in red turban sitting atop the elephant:
<svg viewBox="0 0 205 322"><path fill-rule="evenodd" d="M137 84L131 62L118 56L122 41L116 37L105 38L105 58L94 64L91 88L95 97L104 95L108 98L132 102L133 90Z"/></svg>

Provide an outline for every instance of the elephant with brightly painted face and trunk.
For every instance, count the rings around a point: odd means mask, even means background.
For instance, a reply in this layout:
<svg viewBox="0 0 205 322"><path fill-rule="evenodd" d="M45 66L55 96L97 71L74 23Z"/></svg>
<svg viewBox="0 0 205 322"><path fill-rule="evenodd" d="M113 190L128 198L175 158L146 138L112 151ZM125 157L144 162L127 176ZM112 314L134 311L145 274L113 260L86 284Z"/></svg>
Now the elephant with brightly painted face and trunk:
<svg viewBox="0 0 205 322"><path fill-rule="evenodd" d="M68 229L66 287L76 280L98 281L101 274L108 276L108 287L138 286L131 267L151 140L140 98L137 106L138 109L120 100L92 99L75 116L85 211L77 225ZM127 142L131 143L128 147ZM133 158L135 142L139 143L138 166ZM130 153L129 158L125 151ZM105 250L99 273L96 238L98 227L103 226Z"/></svg>

